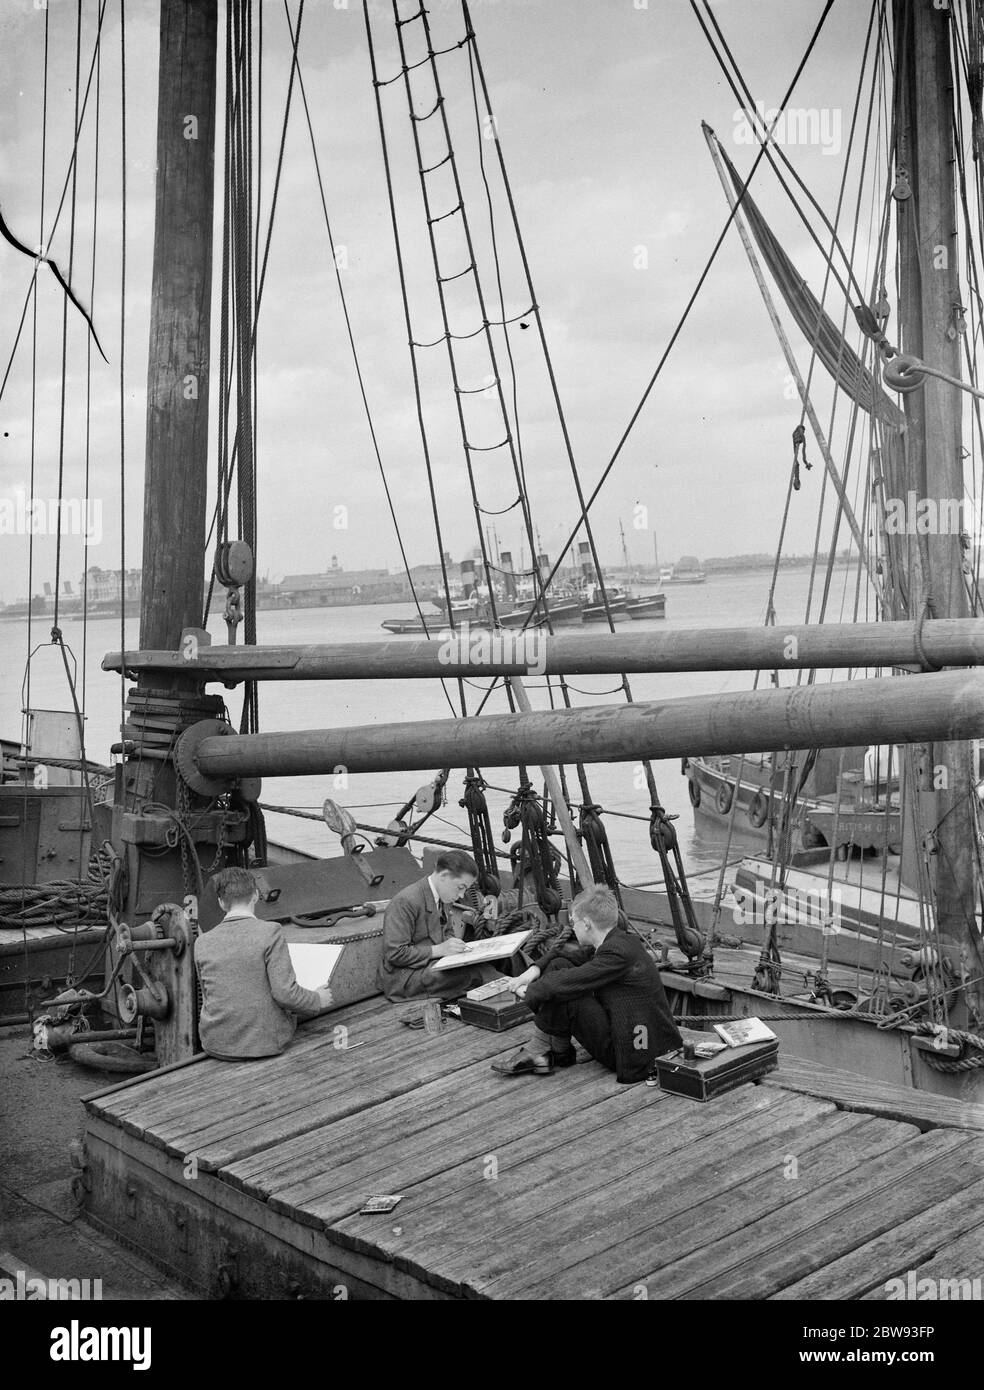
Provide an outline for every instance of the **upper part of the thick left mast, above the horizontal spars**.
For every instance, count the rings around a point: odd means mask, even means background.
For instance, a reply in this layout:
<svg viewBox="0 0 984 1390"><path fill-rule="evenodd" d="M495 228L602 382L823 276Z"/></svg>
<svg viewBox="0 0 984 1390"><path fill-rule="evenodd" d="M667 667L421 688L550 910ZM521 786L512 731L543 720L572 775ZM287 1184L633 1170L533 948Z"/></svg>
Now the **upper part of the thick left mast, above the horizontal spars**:
<svg viewBox="0 0 984 1390"><path fill-rule="evenodd" d="M202 621L208 457L215 0L161 0L140 645Z"/></svg>

